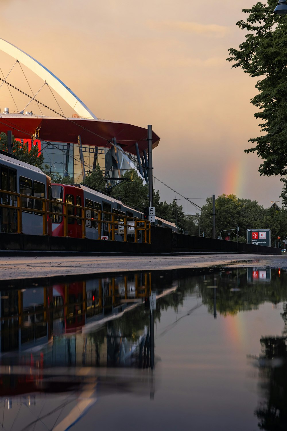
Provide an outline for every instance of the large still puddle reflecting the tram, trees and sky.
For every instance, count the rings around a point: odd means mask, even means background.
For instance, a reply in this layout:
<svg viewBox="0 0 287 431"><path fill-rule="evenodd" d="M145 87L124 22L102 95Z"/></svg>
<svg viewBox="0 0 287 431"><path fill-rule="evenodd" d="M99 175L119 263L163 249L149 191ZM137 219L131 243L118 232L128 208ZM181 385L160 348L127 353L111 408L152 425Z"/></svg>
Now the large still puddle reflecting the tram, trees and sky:
<svg viewBox="0 0 287 431"><path fill-rule="evenodd" d="M285 430L286 301L257 267L9 282L0 427Z"/></svg>

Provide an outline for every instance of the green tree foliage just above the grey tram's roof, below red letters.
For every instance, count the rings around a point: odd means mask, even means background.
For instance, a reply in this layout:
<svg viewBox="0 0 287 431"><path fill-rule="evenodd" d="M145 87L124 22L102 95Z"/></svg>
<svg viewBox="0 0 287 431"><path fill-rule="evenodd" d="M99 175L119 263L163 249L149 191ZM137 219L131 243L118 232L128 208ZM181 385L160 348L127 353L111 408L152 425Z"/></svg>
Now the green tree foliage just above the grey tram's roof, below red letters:
<svg viewBox="0 0 287 431"><path fill-rule="evenodd" d="M0 133L0 150L8 151L7 135L4 132ZM18 157L21 162L29 163L29 165L37 166L42 168L43 165L43 154L38 154L39 149L36 145L32 145L30 152L28 152L27 145L21 145L19 141L15 141L15 137L12 135L12 153Z"/></svg>

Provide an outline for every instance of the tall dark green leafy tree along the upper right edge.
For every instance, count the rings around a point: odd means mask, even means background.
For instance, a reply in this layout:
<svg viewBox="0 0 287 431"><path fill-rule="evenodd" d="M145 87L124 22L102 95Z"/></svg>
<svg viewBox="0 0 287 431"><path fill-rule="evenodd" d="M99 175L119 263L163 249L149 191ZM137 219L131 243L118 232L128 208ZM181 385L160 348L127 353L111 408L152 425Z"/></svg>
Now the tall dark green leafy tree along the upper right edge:
<svg viewBox="0 0 287 431"><path fill-rule="evenodd" d="M261 175L281 175L286 193L287 20L273 13L277 0L267 3L258 2L251 9L243 9L249 15L236 25L247 31L246 40L239 50L229 49L227 60L234 62L232 68L241 67L251 77L258 78L255 85L258 94L251 103L259 109L254 116L260 120L263 134L251 138L248 142L255 146L245 152L256 152L262 158Z"/></svg>

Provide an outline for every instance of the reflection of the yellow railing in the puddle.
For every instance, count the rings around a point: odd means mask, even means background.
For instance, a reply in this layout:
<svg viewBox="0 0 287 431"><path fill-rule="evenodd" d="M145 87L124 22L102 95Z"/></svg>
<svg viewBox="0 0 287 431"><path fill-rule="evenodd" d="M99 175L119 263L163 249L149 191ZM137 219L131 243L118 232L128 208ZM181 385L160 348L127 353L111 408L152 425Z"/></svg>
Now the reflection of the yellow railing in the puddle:
<svg viewBox="0 0 287 431"><path fill-rule="evenodd" d="M5 297L9 295L13 297L14 292L17 292L18 307L16 314L15 311L8 311L8 315L2 315L0 332L2 336L6 336L17 328L27 330L29 327L40 328L43 325L46 327L48 324L48 336L50 337L49 322L58 319L67 323L66 330L72 331L85 324L85 317L93 317L101 312L111 312L112 307L123 306L124 303L142 302L144 298L149 297L151 294L151 272L142 273L142 277L140 275L141 273L135 274L134 278L130 280L128 280L127 275L120 278L109 277L106 282L104 279L98 278L98 290L96 288L87 290L85 281L78 282L76 288L71 287L68 283L57 285L61 287L60 297L62 298L61 303L58 304L54 301L52 286L37 287L38 290L43 291L43 303L28 308L23 307L24 292L22 290L5 291ZM123 290L120 291L120 283L124 286L124 292ZM129 284L133 286L133 292L130 293L128 291ZM3 322L6 322L7 325L6 323L3 325Z"/></svg>

